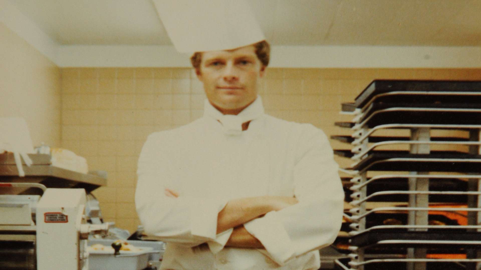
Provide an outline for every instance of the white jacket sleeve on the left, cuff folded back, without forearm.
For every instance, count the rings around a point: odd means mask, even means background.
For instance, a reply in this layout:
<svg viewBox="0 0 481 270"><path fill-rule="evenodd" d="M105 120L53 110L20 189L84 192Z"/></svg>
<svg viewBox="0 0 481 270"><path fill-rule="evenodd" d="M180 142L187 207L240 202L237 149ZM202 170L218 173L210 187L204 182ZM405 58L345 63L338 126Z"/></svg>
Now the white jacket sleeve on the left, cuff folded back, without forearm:
<svg viewBox="0 0 481 270"><path fill-rule="evenodd" d="M164 139L162 133L150 135L139 157L135 204L145 232L190 247L205 242L225 245L225 233L217 236L216 230L217 214L227 200L165 195L165 188L172 189L171 183L178 180L172 179L169 140Z"/></svg>

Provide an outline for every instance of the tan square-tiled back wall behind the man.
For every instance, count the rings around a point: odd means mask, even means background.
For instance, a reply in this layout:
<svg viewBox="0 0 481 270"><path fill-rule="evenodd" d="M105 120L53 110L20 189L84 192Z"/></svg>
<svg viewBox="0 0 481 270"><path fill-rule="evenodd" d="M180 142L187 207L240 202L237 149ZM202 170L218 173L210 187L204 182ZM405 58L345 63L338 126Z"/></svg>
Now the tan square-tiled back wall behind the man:
<svg viewBox="0 0 481 270"><path fill-rule="evenodd" d="M270 115L312 123L329 135L348 121L342 102L376 78L481 80L478 69L267 69L260 94ZM203 88L186 68L62 69L62 146L108 172L94 192L107 221L131 232L139 224L134 205L137 159L150 133L202 115ZM348 148L331 141L334 148ZM341 166L351 162L336 158Z"/></svg>

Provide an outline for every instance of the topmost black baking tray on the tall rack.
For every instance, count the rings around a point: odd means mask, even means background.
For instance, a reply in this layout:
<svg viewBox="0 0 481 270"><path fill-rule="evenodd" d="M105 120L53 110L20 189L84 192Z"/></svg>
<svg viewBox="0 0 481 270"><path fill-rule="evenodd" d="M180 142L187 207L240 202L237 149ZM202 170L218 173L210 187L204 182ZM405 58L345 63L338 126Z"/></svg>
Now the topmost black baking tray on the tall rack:
<svg viewBox="0 0 481 270"><path fill-rule="evenodd" d="M390 92L412 92L412 95L376 96ZM480 103L481 96L422 95L417 92L481 92L481 81L439 80L374 80L356 98L355 108L362 108L371 99L376 102L406 103ZM353 107L353 106L351 106Z"/></svg>

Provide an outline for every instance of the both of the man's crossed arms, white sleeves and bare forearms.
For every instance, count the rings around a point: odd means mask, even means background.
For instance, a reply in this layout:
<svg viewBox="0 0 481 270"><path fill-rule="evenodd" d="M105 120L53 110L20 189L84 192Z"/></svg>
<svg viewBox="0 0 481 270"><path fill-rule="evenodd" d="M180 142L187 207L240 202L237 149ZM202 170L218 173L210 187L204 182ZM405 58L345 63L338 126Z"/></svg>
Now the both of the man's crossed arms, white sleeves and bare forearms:
<svg viewBox="0 0 481 270"><path fill-rule="evenodd" d="M168 158L157 159L163 149L149 138L139 158L136 193L146 233L187 246L208 243L213 252L224 245L263 246L279 264L329 245L341 225L343 192L338 166L322 135L312 136L310 144L300 149L304 153L293 172L296 198L261 196L230 201L179 196L175 191L172 194L177 196L169 196L165 188L172 186L168 180L172 166ZM298 204L292 202L296 199ZM218 240L219 235L223 240Z"/></svg>

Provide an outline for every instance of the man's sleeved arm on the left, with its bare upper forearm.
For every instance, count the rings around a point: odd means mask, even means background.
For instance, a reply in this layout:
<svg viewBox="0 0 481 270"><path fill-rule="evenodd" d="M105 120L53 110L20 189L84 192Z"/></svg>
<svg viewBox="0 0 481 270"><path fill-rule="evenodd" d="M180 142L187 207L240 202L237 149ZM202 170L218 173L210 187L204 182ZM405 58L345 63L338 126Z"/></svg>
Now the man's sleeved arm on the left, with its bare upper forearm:
<svg viewBox="0 0 481 270"><path fill-rule="evenodd" d="M293 199L260 196L227 201L215 196L179 196L172 188L177 180L167 144L164 134L150 135L139 157L136 208L149 235L186 246L216 242L222 248L229 230L290 205Z"/></svg>

